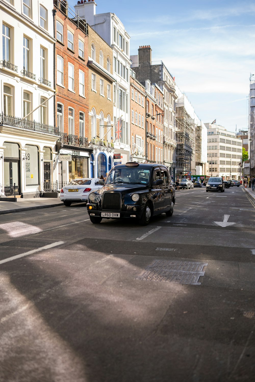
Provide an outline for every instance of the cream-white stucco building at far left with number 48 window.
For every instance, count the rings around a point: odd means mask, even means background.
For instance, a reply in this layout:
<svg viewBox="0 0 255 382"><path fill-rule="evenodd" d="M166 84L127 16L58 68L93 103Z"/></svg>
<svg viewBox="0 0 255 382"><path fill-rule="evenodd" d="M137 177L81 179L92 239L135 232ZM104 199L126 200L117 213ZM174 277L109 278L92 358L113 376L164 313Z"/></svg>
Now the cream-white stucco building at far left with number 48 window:
<svg viewBox="0 0 255 382"><path fill-rule="evenodd" d="M33 197L57 179L52 1L0 0L0 24L0 185Z"/></svg>

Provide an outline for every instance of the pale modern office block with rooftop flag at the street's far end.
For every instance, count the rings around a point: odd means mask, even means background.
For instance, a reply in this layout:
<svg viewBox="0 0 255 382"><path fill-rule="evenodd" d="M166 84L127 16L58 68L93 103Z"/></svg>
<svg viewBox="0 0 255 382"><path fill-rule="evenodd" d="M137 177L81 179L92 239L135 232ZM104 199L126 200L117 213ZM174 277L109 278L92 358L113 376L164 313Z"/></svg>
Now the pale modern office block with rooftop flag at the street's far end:
<svg viewBox="0 0 255 382"><path fill-rule="evenodd" d="M223 126L205 123L207 128L207 176L240 180L242 176L242 140Z"/></svg>

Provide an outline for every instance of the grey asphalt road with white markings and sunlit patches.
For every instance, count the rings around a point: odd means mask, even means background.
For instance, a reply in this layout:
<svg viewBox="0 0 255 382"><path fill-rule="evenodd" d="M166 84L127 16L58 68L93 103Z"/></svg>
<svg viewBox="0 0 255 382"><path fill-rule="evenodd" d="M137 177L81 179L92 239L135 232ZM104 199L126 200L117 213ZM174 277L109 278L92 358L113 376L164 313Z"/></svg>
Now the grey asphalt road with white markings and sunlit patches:
<svg viewBox="0 0 255 382"><path fill-rule="evenodd" d="M254 380L254 228L236 187L177 191L146 227L83 204L2 215L0 381Z"/></svg>

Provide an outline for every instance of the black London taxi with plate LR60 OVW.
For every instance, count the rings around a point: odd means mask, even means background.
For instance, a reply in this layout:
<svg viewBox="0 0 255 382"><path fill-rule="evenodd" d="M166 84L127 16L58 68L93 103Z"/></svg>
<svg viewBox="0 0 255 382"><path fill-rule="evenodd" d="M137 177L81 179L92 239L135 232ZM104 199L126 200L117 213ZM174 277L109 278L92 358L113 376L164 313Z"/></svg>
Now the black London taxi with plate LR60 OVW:
<svg viewBox="0 0 255 382"><path fill-rule="evenodd" d="M172 216L175 187L164 165L128 162L110 170L104 186L89 194L92 223L102 219L135 218L147 225L154 215Z"/></svg>

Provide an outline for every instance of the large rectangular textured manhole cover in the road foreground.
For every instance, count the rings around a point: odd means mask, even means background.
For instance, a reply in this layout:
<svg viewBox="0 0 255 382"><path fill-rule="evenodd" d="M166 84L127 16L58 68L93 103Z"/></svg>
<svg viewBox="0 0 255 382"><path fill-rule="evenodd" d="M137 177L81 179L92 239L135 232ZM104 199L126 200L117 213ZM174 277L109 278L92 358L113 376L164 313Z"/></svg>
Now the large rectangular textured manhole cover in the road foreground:
<svg viewBox="0 0 255 382"><path fill-rule="evenodd" d="M136 278L138 280L200 285L198 279L205 274L203 267L207 265L207 263L193 261L155 260L145 268L143 274Z"/></svg>

